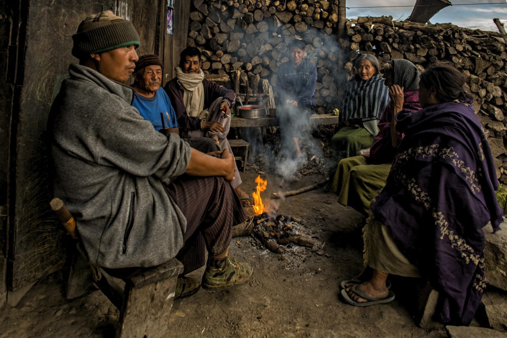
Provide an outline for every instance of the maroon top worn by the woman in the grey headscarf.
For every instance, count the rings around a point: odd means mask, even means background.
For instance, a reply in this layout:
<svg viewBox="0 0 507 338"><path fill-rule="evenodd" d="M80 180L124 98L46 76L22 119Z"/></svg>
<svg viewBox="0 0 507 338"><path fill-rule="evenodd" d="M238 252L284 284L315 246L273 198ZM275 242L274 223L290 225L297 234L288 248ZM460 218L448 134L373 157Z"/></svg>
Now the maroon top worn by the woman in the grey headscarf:
<svg viewBox="0 0 507 338"><path fill-rule="evenodd" d="M403 109L417 111L421 109L419 104L419 91L413 90L403 93ZM392 101L389 101L384 109L378 123L379 133L375 136L370 154L364 155L368 164L384 164L392 162L396 155L396 148L392 146L391 141L391 119L392 119Z"/></svg>

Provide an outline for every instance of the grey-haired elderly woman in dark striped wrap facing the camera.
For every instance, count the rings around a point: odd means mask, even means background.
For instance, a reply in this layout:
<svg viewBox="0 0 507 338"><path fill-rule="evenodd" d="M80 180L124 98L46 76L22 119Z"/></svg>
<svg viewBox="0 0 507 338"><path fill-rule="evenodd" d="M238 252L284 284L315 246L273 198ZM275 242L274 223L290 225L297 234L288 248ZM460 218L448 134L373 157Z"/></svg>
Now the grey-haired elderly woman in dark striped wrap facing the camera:
<svg viewBox="0 0 507 338"><path fill-rule="evenodd" d="M331 180L340 160L357 156L360 149L372 145L379 131L377 123L389 103L377 58L359 55L354 66L357 74L345 84L339 106L342 128L331 139Z"/></svg>

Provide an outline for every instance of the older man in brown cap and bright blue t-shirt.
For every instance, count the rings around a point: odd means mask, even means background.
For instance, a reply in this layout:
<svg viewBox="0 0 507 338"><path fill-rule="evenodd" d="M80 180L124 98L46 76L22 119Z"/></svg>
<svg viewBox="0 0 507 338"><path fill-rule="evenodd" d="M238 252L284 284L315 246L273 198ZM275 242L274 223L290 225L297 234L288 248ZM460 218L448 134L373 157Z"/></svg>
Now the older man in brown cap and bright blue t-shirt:
<svg viewBox="0 0 507 338"><path fill-rule="evenodd" d="M135 63L132 75L134 77L132 106L139 110L139 114L145 120L152 123L155 130L176 128L178 123L174 108L165 90L160 88L162 82L162 61L160 58L155 54L140 56ZM184 140L192 148L205 154L218 151L215 142L208 137L184 138Z"/></svg>

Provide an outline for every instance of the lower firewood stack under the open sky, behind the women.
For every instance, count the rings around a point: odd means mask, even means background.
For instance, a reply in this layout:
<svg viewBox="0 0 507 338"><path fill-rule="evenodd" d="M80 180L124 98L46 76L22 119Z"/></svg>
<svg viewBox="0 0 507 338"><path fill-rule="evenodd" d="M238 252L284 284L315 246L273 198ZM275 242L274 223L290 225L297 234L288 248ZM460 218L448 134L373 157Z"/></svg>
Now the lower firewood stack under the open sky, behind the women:
<svg viewBox="0 0 507 338"><path fill-rule="evenodd" d="M467 79L466 89L475 99L498 178L507 183L507 51L497 32L472 30L452 24L422 25L395 22L391 17L358 17L346 22L348 37L340 40L350 54L345 69L353 74L353 59L370 53L380 63L407 59L422 70L436 62L458 68Z"/></svg>

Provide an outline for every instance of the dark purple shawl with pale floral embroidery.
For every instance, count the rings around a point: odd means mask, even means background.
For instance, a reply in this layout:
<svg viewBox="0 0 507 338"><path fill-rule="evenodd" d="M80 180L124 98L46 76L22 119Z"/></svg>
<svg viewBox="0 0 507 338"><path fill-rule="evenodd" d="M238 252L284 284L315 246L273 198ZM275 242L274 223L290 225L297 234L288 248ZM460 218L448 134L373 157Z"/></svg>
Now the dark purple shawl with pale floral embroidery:
<svg viewBox="0 0 507 338"><path fill-rule="evenodd" d="M396 130L406 136L372 212L440 292L441 320L468 325L486 288L482 228L502 220L489 143L470 99L401 111Z"/></svg>

